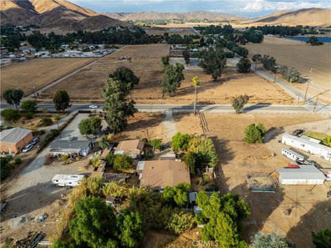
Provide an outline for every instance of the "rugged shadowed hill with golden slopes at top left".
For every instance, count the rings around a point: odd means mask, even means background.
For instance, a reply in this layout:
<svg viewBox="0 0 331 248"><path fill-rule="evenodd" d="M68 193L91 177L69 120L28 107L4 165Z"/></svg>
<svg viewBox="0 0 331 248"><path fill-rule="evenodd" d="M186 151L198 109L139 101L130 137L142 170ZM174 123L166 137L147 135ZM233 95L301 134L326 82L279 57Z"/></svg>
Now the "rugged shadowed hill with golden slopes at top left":
<svg viewBox="0 0 331 248"><path fill-rule="evenodd" d="M37 25L66 31L99 30L128 23L99 15L66 0L1 0L1 25Z"/></svg>

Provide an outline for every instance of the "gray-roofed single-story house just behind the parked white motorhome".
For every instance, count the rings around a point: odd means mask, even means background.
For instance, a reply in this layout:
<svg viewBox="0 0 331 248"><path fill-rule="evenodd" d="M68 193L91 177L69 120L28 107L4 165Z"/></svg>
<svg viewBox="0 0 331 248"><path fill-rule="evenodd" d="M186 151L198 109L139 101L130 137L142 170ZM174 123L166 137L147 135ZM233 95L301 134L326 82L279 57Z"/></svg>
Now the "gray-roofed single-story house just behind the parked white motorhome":
<svg viewBox="0 0 331 248"><path fill-rule="evenodd" d="M92 151L93 145L90 140L78 140L77 137L70 137L69 140L54 140L50 143L50 153L74 154L86 156Z"/></svg>

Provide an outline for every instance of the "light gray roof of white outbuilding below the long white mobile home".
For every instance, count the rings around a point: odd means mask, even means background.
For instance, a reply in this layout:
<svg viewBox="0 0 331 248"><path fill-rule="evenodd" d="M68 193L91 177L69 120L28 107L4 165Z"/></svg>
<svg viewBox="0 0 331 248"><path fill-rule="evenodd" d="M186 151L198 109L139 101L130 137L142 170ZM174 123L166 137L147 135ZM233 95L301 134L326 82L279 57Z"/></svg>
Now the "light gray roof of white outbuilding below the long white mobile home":
<svg viewBox="0 0 331 248"><path fill-rule="evenodd" d="M314 165L300 165L297 169L281 168L277 169L282 179L312 179L322 180L325 175Z"/></svg>

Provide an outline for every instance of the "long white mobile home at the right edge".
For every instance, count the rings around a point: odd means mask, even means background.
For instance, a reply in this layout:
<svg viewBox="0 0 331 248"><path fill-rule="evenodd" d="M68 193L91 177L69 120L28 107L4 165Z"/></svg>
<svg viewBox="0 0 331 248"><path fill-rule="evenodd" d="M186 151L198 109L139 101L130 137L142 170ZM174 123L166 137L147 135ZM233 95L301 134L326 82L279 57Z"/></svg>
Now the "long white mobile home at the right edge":
<svg viewBox="0 0 331 248"><path fill-rule="evenodd" d="M331 160L331 147L318 144L316 139L311 139L309 137L298 137L285 133L281 138L281 142L301 151L317 155L325 160Z"/></svg>

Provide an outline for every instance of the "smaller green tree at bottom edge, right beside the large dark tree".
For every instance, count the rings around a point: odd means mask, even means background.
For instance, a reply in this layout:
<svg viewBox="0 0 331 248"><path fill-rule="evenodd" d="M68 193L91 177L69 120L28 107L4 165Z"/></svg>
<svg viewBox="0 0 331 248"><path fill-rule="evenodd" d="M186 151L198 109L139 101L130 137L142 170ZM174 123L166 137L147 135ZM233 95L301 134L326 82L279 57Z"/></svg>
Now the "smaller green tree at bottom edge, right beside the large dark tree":
<svg viewBox="0 0 331 248"><path fill-rule="evenodd" d="M117 216L118 238L123 247L140 247L143 240L143 221L138 212L123 209Z"/></svg>

